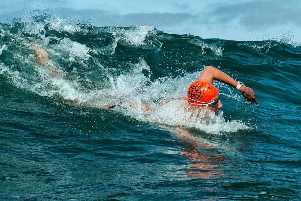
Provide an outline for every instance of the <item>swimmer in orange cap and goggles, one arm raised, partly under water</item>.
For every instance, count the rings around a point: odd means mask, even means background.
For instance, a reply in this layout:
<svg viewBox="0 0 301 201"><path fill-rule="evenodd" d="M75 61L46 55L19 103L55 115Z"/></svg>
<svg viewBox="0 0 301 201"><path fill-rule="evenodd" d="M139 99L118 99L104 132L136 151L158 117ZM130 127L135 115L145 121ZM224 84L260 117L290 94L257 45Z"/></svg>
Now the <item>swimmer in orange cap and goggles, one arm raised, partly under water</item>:
<svg viewBox="0 0 301 201"><path fill-rule="evenodd" d="M36 54L36 60L39 61L43 66L47 67L51 70L51 74L54 77L60 77L60 74L54 69L53 66L49 64L48 60L48 52L45 50L41 50L39 48L35 48L34 52ZM242 93L242 96L245 100L250 102L250 104L258 104L255 93L252 88L245 86L242 82L236 81L231 78L229 75L224 72L214 68L213 66L206 66L200 77L197 81L193 82L187 91L187 96L181 98L175 98L164 103L159 104L158 106L163 106L169 104L172 100L184 100L187 104L185 108L190 110L191 112L195 110L204 111L205 107L215 113L217 116L220 108L223 107L222 102L220 101L220 95L218 89L213 86L213 80L217 80L223 82ZM104 109L110 109L116 107L117 105L91 105L84 104L88 107L100 107ZM146 103L142 103L141 112L145 114L149 114L152 112L152 109L147 106ZM138 108L136 105L131 105L132 108Z"/></svg>

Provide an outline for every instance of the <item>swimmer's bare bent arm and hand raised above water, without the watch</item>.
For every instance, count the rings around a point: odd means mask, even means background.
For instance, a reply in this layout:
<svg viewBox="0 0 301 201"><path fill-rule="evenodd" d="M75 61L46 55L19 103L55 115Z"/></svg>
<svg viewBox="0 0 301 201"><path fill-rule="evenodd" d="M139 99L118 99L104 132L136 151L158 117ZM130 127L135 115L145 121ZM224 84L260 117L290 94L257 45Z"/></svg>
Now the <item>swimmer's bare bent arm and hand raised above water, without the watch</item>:
<svg viewBox="0 0 301 201"><path fill-rule="evenodd" d="M207 80L209 83L213 83L213 80L217 80L223 82L233 88L236 88L237 81L231 78L229 75L225 74L224 72L220 71L219 69L214 68L213 66L206 66L203 70L202 74L200 75L198 80ZM250 102L252 105L258 102L255 98L255 93L253 89L243 85L239 91L242 93L244 99Z"/></svg>

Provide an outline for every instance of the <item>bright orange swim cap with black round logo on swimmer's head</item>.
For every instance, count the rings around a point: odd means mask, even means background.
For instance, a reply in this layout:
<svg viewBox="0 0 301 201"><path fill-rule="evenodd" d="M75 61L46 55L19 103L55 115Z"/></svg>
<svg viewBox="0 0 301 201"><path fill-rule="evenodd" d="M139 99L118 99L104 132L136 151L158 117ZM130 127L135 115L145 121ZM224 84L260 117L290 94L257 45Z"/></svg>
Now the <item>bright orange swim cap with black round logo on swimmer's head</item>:
<svg viewBox="0 0 301 201"><path fill-rule="evenodd" d="M187 90L187 101L194 106L202 105L211 101L219 90L209 82L200 80L193 82Z"/></svg>

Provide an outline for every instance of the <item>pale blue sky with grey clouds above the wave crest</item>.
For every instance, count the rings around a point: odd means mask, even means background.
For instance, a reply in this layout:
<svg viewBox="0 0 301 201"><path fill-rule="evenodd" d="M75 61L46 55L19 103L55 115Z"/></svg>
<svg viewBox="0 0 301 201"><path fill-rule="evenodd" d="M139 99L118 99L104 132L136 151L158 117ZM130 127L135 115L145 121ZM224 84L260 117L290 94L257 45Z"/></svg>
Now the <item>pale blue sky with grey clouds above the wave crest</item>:
<svg viewBox="0 0 301 201"><path fill-rule="evenodd" d="M77 21L93 18L98 27L150 25L166 33L244 41L287 37L301 45L300 0L1 0L0 22L48 7Z"/></svg>

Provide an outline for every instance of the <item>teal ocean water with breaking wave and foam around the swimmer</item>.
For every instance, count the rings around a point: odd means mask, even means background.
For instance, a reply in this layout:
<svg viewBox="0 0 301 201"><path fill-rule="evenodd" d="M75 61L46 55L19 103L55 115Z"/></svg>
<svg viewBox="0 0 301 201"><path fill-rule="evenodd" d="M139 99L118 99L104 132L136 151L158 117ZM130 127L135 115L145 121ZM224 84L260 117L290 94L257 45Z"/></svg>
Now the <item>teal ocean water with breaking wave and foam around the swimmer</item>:
<svg viewBox="0 0 301 201"><path fill-rule="evenodd" d="M259 105L217 81L218 116L160 105L185 96L206 65L253 88ZM48 10L2 23L0 198L300 200L300 68L290 37L94 27Z"/></svg>

